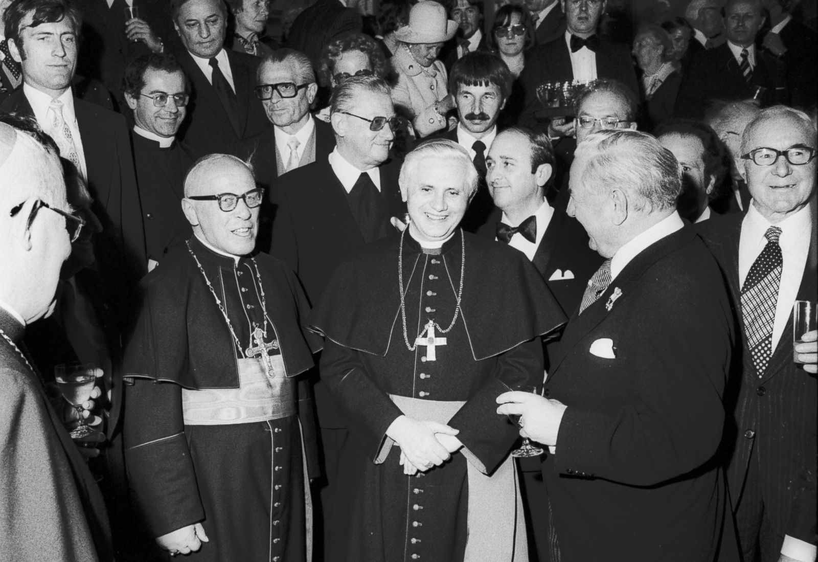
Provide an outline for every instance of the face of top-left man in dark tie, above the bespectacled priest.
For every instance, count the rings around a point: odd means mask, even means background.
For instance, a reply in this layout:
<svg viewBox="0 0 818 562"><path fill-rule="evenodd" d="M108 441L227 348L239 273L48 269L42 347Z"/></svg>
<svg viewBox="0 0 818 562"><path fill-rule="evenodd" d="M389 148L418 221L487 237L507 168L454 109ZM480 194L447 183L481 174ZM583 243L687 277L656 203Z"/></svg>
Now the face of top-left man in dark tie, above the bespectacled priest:
<svg viewBox="0 0 818 562"><path fill-rule="evenodd" d="M222 50L227 19L218 0L188 0L179 8L173 27L188 51L209 59Z"/></svg>

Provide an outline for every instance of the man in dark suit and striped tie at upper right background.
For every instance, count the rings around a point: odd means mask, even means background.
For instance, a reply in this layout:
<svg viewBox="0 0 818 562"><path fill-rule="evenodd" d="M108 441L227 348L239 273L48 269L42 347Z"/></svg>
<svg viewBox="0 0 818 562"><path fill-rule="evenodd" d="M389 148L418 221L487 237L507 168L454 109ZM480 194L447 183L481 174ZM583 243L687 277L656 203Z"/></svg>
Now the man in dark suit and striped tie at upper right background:
<svg viewBox="0 0 818 562"><path fill-rule="evenodd" d="M724 7L727 42L690 63L676 97L676 115L702 119L714 100L786 102L784 64L755 46L764 23L760 0L729 0Z"/></svg>

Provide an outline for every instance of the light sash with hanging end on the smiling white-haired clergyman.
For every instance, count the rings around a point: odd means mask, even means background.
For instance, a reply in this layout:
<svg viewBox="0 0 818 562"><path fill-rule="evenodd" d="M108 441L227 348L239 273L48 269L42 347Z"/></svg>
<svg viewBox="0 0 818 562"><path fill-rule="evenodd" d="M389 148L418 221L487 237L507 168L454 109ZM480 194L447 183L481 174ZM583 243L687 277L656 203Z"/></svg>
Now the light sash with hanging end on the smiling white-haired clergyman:
<svg viewBox="0 0 818 562"><path fill-rule="evenodd" d="M401 411L416 420L432 420L447 424L465 402L420 400L390 395ZM389 456L391 438L384 438L375 464ZM528 542L525 534L525 515L519 494L519 481L511 456L494 471L485 474L485 465L466 447L465 456L469 479L469 536L466 539L465 562L526 562Z"/></svg>

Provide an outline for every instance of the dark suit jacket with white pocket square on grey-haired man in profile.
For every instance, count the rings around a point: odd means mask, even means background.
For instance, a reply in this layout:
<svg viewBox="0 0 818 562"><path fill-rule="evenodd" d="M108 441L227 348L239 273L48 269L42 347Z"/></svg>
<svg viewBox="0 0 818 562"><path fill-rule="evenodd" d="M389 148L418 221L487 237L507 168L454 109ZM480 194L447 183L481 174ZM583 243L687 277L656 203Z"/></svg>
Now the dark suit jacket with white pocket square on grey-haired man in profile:
<svg viewBox="0 0 818 562"><path fill-rule="evenodd" d="M715 559L730 519L713 457L734 335L721 272L689 226L569 319L544 390L568 407L542 470L562 560Z"/></svg>

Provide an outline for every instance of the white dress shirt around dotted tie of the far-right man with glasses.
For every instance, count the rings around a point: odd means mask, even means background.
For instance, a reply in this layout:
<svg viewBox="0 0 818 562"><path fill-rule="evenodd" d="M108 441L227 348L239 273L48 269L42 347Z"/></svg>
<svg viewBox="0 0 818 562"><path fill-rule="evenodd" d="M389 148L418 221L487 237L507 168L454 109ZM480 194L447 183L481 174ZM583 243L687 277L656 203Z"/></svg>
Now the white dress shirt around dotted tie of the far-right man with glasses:
<svg viewBox="0 0 818 562"><path fill-rule="evenodd" d="M778 302L775 304L775 321L772 329L772 348L778 345L784 327L789 321L793 302L798 295L798 287L804 275L807 264L807 254L810 250L810 235L812 214L809 205L777 224L772 224L762 217L756 209L754 201L741 222L741 237L739 239L739 287L744 285L747 274L762 253L767 240L764 233L769 227L780 227L781 236L778 244L781 246L783 268L781 270L781 284L778 288Z"/></svg>

